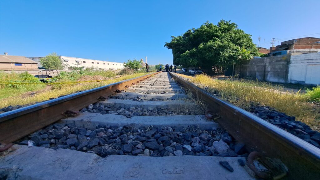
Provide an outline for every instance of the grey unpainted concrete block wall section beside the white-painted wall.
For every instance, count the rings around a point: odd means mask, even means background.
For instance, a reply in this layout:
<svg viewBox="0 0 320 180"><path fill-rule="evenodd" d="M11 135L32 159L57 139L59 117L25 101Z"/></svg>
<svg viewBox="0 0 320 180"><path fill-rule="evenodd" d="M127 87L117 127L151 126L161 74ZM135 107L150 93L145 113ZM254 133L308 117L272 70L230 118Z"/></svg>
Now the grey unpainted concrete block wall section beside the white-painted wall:
<svg viewBox="0 0 320 180"><path fill-rule="evenodd" d="M260 81L287 83L290 55L284 54L252 59L237 68L242 78L257 78Z"/></svg>

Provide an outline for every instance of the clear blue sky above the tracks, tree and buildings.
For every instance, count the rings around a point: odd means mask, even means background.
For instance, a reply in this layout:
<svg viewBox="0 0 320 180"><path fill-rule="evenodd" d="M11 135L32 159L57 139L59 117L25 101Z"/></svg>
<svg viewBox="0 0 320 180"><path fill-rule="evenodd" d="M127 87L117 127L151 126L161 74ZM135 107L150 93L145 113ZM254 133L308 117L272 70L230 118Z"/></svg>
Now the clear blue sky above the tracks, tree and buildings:
<svg viewBox="0 0 320 180"><path fill-rule="evenodd" d="M149 64L171 64L172 51L164 43L207 20L231 20L255 44L260 36L266 48L271 38L280 43L320 37L319 7L319 0L1 0L0 53L39 57L56 52L116 62L148 56Z"/></svg>

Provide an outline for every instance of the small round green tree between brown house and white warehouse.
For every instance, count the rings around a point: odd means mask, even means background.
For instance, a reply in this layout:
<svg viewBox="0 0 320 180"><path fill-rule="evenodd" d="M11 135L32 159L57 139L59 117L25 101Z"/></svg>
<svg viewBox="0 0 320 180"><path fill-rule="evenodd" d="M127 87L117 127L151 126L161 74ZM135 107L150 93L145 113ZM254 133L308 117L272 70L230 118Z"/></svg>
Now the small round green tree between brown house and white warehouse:
<svg viewBox="0 0 320 180"><path fill-rule="evenodd" d="M51 53L41 58L40 63L48 70L63 70L65 67L63 60L57 53Z"/></svg>

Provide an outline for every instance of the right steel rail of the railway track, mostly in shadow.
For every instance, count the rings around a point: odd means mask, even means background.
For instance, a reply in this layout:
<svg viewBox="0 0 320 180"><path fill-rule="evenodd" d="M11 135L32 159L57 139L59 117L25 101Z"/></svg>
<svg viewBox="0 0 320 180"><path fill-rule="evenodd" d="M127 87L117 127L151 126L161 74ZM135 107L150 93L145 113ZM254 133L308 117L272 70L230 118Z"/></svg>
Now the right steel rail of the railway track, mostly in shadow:
<svg viewBox="0 0 320 180"><path fill-rule="evenodd" d="M217 121L248 151L259 151L279 158L288 167L288 179L320 179L320 149L273 124L222 100L171 73L181 85L190 89L213 113Z"/></svg>

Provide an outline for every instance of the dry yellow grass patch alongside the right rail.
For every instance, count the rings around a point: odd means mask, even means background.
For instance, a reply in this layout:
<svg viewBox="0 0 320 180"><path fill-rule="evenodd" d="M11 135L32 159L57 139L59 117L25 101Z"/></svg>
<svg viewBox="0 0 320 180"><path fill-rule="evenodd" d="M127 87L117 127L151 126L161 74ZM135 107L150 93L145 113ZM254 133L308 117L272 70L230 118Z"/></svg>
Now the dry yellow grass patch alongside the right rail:
<svg viewBox="0 0 320 180"><path fill-rule="evenodd" d="M232 80L212 79L206 75L195 77L179 74L180 77L188 78L195 85L217 94L224 100L249 110L252 103L258 102L263 106L275 108L289 116L295 116L297 120L309 125L320 125L317 110L308 103L308 98L300 93L287 93L270 89L270 85L263 86L259 82L244 82Z"/></svg>

